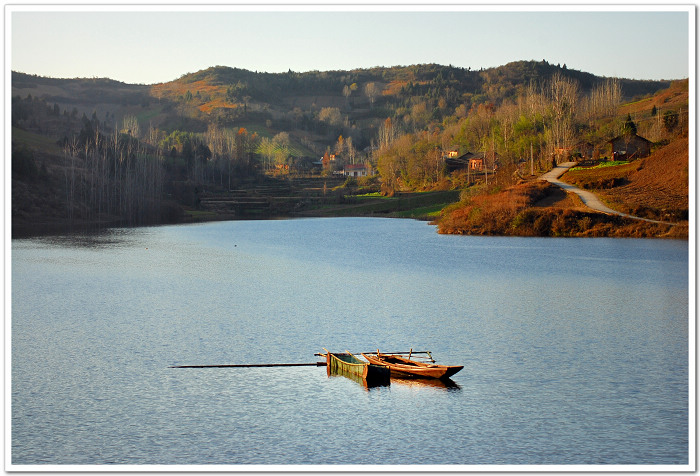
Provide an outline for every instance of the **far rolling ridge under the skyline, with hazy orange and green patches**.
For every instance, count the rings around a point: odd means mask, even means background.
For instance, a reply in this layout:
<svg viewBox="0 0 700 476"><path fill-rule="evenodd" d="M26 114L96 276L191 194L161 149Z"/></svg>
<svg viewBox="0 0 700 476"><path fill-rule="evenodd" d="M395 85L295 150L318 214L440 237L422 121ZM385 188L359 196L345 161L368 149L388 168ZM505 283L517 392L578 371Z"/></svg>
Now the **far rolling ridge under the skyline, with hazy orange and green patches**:
<svg viewBox="0 0 700 476"><path fill-rule="evenodd" d="M300 153L317 155L339 135L352 137L356 148L370 146L381 121L403 114L419 100L432 102L432 108L442 100L442 107L431 112L433 119L442 120L460 105L473 108L514 99L529 84L543 84L556 73L576 80L583 93L606 79L546 61L518 61L479 71L436 64L303 73L215 66L151 86L13 72L12 95L42 98L69 114L95 114L111 127L133 115L144 126L168 133L204 132L212 122L246 127L263 137L286 131ZM374 97L366 91L370 83ZM620 84L623 96L632 99L671 83L620 79ZM340 115L323 119L319 116L324 108L337 108Z"/></svg>

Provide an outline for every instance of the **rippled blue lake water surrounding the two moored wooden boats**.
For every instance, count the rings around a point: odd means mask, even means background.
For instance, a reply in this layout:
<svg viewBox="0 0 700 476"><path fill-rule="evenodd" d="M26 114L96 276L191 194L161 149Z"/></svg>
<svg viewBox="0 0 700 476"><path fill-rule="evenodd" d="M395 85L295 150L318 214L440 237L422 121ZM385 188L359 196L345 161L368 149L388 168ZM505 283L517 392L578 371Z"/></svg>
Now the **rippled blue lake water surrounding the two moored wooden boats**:
<svg viewBox="0 0 700 476"><path fill-rule="evenodd" d="M12 240L11 463L688 465L688 246L380 218ZM465 367L170 368L324 347Z"/></svg>

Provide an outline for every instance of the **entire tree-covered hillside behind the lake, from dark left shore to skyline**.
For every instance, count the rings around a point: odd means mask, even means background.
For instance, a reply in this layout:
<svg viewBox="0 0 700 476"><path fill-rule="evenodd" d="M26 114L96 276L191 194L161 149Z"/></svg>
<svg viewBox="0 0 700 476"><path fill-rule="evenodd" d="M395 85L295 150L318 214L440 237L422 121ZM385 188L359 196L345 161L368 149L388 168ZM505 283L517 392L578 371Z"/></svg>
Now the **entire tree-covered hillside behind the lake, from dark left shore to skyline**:
<svg viewBox="0 0 700 476"><path fill-rule="evenodd" d="M655 143L687 131L687 88L546 61L283 74L216 66L155 85L13 72L13 220L178 220L204 192L331 177L350 164L378 171L367 181L388 195L489 174L505 184L581 143L605 154L628 119ZM648 102L676 90L685 103ZM450 151L485 154L485 170L451 170Z"/></svg>

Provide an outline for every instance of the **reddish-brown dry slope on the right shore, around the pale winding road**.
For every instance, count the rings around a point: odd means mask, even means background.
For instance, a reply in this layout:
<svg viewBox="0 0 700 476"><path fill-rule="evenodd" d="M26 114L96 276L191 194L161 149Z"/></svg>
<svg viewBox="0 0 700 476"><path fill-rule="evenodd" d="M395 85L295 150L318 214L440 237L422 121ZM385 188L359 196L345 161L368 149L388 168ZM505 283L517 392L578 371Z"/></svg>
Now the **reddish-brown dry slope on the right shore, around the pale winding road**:
<svg viewBox="0 0 700 476"><path fill-rule="evenodd" d="M568 172L563 179L591 189L608 204L657 224L593 212L547 182L521 183L464 199L436 221L440 233L517 236L688 238L688 139L625 165Z"/></svg>

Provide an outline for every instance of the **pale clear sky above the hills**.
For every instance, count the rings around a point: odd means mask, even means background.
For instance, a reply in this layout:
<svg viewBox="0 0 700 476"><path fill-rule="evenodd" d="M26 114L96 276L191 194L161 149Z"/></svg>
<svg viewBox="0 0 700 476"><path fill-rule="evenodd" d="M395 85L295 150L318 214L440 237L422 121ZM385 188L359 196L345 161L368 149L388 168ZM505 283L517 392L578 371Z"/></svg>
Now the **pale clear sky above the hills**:
<svg viewBox="0 0 700 476"><path fill-rule="evenodd" d="M217 65L270 73L422 63L478 70L546 60L655 80L694 71L692 6L485 8L6 6L6 70L9 62L40 76L135 84Z"/></svg>

